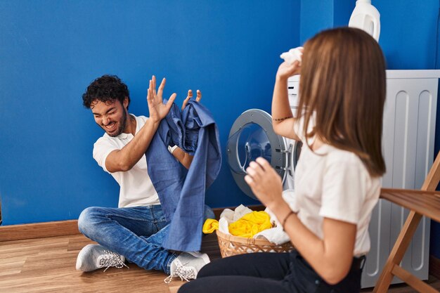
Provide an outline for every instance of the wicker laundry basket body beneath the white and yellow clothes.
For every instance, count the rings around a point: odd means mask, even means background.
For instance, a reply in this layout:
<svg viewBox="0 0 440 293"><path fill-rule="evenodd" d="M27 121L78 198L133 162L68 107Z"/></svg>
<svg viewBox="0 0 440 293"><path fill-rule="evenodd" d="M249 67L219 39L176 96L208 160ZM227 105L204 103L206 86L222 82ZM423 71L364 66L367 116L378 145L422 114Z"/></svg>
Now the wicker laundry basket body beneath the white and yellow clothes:
<svg viewBox="0 0 440 293"><path fill-rule="evenodd" d="M268 240L228 235L219 230L216 230L216 233L221 257L253 252L290 252L293 249L291 242L276 245Z"/></svg>

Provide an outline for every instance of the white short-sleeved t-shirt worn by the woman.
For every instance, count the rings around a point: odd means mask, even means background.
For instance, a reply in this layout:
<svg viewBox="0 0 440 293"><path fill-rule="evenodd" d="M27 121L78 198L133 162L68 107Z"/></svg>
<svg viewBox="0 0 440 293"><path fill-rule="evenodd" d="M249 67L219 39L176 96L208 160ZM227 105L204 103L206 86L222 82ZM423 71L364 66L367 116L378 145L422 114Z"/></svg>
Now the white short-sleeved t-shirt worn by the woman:
<svg viewBox="0 0 440 293"><path fill-rule="evenodd" d="M370 250L368 225L379 199L380 177L371 177L354 152L327 144L313 152L302 135L302 127L301 120L295 124L303 146L295 169L292 207L304 226L321 239L324 218L356 224L354 256L364 255Z"/></svg>

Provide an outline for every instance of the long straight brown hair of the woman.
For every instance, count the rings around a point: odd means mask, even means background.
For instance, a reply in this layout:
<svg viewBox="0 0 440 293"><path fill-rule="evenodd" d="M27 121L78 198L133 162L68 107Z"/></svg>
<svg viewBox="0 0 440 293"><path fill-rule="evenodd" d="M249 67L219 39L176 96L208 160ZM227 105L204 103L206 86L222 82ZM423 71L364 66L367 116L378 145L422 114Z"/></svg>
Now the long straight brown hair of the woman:
<svg viewBox="0 0 440 293"><path fill-rule="evenodd" d="M325 30L304 44L297 118L304 133L311 117L317 136L354 152L371 176L382 176L382 119L386 95L382 50L369 34L351 27Z"/></svg>

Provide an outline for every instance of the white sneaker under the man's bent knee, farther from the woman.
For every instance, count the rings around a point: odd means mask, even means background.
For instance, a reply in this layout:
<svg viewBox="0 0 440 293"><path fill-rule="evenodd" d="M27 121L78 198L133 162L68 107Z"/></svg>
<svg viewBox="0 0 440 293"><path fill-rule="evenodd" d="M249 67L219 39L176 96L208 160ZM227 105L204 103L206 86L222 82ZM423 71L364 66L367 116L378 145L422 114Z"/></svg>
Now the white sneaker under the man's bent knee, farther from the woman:
<svg viewBox="0 0 440 293"><path fill-rule="evenodd" d="M90 272L110 267L122 268L125 265L124 256L105 249L101 245L86 245L78 254L77 271ZM128 268L128 266L126 266Z"/></svg>

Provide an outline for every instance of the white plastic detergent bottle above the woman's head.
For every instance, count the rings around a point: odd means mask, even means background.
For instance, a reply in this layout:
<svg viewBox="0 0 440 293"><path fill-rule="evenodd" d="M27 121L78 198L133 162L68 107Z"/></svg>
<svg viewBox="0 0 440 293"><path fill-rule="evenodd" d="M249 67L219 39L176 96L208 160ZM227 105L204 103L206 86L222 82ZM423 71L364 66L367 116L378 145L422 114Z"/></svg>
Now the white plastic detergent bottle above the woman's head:
<svg viewBox="0 0 440 293"><path fill-rule="evenodd" d="M356 7L351 13L349 27L357 27L368 32L376 41L380 35L380 13L375 6L371 5L371 0L357 0Z"/></svg>

